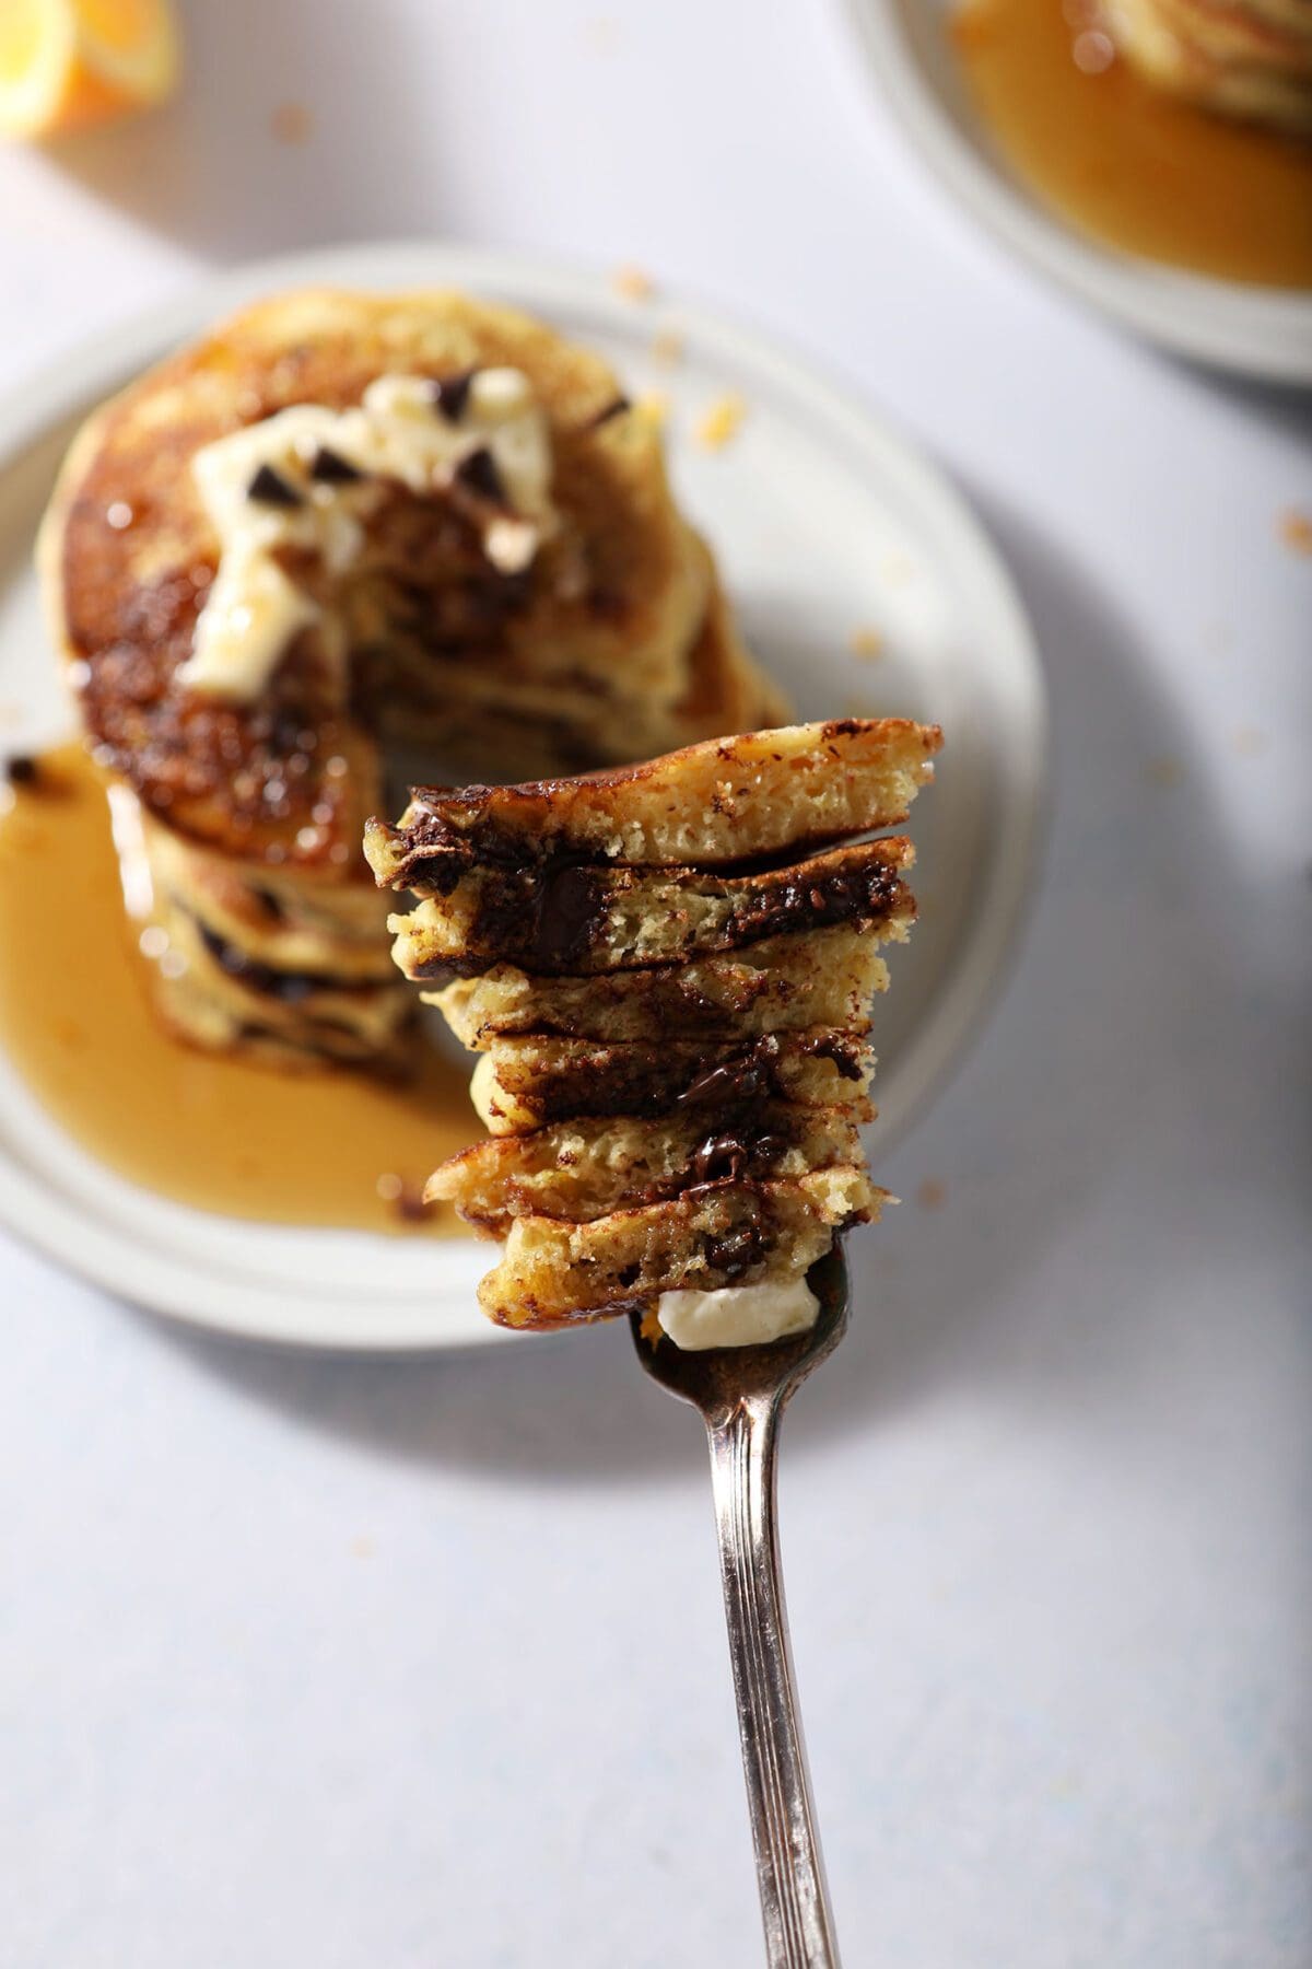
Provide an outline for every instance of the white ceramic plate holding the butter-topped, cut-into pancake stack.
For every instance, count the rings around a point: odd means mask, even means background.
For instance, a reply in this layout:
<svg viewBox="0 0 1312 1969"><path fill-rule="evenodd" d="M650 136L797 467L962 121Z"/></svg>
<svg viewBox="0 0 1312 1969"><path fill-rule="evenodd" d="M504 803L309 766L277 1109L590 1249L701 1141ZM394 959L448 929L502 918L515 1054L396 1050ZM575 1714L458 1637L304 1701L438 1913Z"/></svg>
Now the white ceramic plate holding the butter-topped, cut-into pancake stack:
<svg viewBox="0 0 1312 1969"><path fill-rule="evenodd" d="M254 266L67 358L0 406L0 701L24 715L6 746L67 732L30 555L77 421L169 345L299 282L470 287L600 349L635 392L667 392L679 490L801 713L944 725L948 752L915 821L923 921L893 953L879 1008L883 1146L942 1083L1013 945L1043 803L1043 681L1011 583L958 496L860 404L740 329L677 303L626 303L594 278L519 258L397 246ZM653 364L657 329L685 339L677 366ZM747 417L708 453L690 431L726 390L742 392ZM877 662L852 654L860 626L883 634ZM122 1298L246 1339L352 1351L504 1339L474 1303L488 1246L287 1231L169 1203L83 1154L4 1059L0 1221Z"/></svg>

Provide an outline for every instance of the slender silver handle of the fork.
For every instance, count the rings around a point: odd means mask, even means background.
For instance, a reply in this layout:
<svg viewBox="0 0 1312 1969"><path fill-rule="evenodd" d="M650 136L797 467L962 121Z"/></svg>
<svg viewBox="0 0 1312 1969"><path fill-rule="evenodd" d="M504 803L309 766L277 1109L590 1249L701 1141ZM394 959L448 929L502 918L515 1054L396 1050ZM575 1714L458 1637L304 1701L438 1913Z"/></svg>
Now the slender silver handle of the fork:
<svg viewBox="0 0 1312 1969"><path fill-rule="evenodd" d="M838 1969L779 1569L779 1396L706 1418L738 1731L769 1969Z"/></svg>

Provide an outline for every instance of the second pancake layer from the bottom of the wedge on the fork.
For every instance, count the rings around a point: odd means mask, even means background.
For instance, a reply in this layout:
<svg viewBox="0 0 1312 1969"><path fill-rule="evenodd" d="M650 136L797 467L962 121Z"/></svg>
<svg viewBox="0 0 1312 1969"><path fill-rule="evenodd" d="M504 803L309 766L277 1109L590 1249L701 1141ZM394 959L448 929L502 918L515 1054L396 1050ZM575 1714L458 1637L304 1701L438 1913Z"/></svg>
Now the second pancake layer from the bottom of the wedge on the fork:
<svg viewBox="0 0 1312 1969"><path fill-rule="evenodd" d="M806 1111L787 1101L759 1107L740 1130L706 1114L574 1118L476 1142L433 1172L425 1197L452 1203L466 1223L504 1239L515 1217L592 1223L710 1181L801 1177L856 1164L860 1154L850 1111Z"/></svg>

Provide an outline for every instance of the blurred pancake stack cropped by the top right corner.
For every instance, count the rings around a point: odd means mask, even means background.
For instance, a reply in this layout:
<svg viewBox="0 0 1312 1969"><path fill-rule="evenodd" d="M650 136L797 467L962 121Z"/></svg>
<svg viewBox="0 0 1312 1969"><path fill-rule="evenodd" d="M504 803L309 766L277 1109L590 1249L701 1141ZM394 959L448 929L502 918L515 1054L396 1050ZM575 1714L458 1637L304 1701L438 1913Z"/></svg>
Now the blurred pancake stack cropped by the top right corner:
<svg viewBox="0 0 1312 1969"><path fill-rule="evenodd" d="M1103 0L1103 14L1159 89L1312 138L1312 0Z"/></svg>

